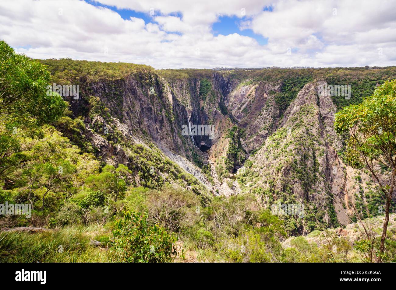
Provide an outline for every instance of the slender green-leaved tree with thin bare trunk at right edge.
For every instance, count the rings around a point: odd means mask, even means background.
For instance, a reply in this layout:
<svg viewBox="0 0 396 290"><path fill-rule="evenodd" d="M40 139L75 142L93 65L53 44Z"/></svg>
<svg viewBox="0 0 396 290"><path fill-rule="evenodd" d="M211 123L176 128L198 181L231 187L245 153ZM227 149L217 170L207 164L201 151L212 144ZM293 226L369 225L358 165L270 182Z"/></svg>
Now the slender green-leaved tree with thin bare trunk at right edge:
<svg viewBox="0 0 396 290"><path fill-rule="evenodd" d="M396 80L375 89L362 103L335 115L338 133L349 133L346 161L355 169L366 168L385 202L385 220L378 253L384 258L389 211L396 187Z"/></svg>

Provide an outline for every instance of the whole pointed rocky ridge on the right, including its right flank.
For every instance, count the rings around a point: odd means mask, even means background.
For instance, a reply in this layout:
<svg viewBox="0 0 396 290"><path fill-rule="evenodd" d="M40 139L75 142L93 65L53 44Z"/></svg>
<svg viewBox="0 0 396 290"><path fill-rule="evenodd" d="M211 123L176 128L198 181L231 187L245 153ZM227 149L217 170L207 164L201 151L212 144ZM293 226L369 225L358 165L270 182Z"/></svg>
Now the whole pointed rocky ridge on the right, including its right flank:
<svg viewBox="0 0 396 290"><path fill-rule="evenodd" d="M354 214L354 176L338 156L340 137L333 122L336 108L327 95L318 95L324 81L308 83L293 100L275 133L249 157L238 174L244 191L253 192L265 207L287 203L305 205L304 220L287 217L291 230L307 233L315 228L346 224ZM365 175L368 181L369 176ZM362 188L362 194L368 192Z"/></svg>

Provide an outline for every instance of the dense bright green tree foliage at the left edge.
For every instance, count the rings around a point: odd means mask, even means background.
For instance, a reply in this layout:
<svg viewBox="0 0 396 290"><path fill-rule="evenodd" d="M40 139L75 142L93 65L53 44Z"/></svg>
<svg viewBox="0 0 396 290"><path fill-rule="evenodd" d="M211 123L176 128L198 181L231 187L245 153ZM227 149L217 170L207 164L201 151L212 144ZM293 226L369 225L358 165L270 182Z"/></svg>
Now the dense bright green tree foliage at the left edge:
<svg viewBox="0 0 396 290"><path fill-rule="evenodd" d="M41 125L63 115L62 97L47 93L49 78L43 64L0 41L0 177L29 161L21 136L37 135Z"/></svg>

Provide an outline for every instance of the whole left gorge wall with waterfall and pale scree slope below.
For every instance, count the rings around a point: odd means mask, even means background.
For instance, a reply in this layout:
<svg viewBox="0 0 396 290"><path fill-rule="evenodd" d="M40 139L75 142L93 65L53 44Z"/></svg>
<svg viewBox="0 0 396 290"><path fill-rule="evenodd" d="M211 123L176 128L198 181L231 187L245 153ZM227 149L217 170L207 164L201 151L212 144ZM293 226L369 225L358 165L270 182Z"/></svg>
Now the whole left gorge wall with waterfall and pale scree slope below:
<svg viewBox="0 0 396 290"><path fill-rule="evenodd" d="M209 191L214 191L197 164L202 164L203 152L230 127L229 117L220 112L220 104L232 84L220 74L213 73L208 76L211 89L204 100L199 95L201 80L188 78L168 82L156 74L147 73L116 81L99 81L82 90L82 95L93 96L93 102L91 97L81 98L72 104L72 110L76 116L84 113L85 134L106 163L114 166L122 163L129 167L133 161L128 157L131 154L128 144L142 144L148 148L153 143L164 157L192 174ZM93 103L99 101L103 108L100 112L95 108L93 113L92 106L97 106ZM183 125L206 126L207 134L183 135ZM209 125L212 126L211 135ZM167 179L168 172L157 173Z"/></svg>

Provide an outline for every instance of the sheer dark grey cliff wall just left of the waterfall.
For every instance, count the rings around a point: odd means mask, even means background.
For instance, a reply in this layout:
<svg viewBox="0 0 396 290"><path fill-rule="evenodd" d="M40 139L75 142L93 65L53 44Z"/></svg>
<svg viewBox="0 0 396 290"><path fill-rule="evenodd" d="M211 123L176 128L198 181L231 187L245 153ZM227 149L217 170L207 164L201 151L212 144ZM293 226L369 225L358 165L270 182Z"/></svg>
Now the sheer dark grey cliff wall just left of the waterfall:
<svg viewBox="0 0 396 290"><path fill-rule="evenodd" d="M96 83L92 91L133 133L143 133L152 141L185 155L177 128L187 123L187 111L167 83L158 76L152 78L147 85L131 76L115 83Z"/></svg>

